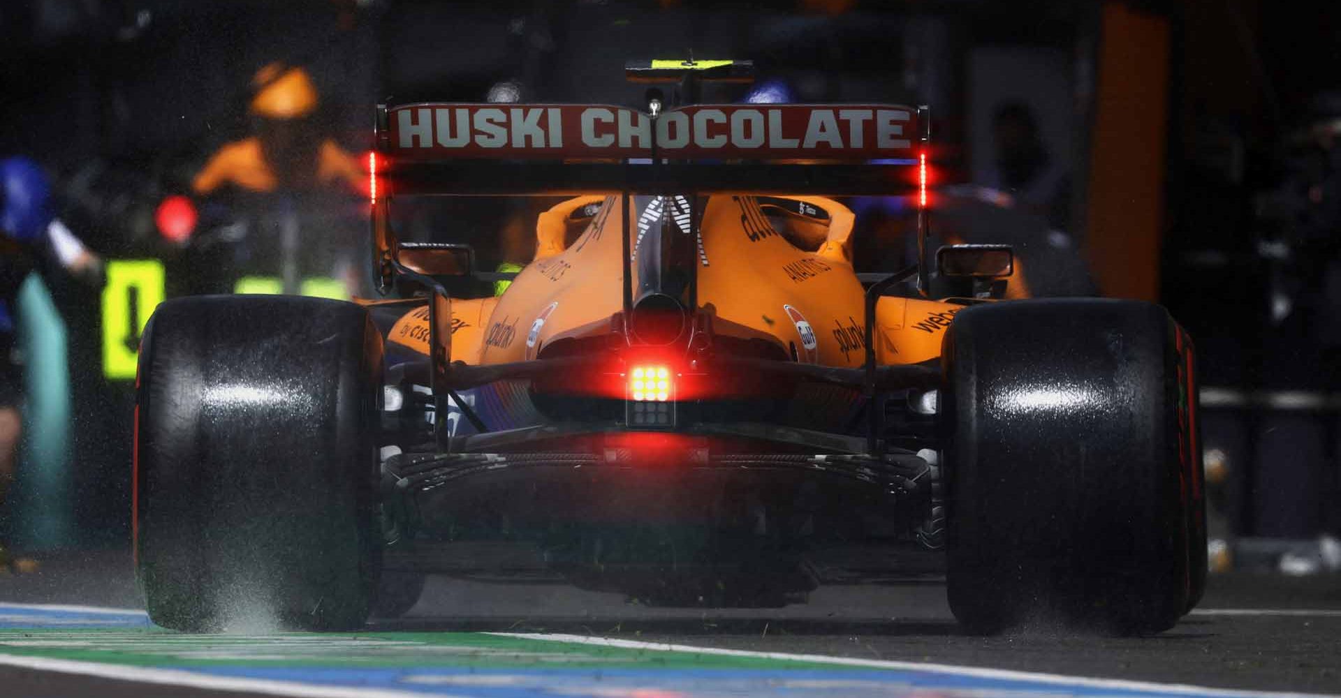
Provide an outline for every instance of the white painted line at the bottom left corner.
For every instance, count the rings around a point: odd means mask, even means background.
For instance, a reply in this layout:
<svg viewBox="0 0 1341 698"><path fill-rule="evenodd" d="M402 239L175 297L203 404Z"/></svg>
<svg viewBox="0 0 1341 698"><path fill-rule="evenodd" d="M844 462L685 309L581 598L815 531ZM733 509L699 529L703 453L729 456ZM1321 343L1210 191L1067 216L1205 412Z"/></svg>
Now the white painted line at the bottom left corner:
<svg viewBox="0 0 1341 698"><path fill-rule="evenodd" d="M424 698L420 691L397 691L390 689L361 689L353 686L333 686L325 683L295 683L291 681L247 679L235 677L213 677L180 669L149 669L139 666L102 665L97 662L75 662L71 659L48 659L46 656L19 656L0 654L0 665L38 671L79 674L114 681L133 681L161 686L185 686L233 693L266 693L295 698ZM433 694L434 698L443 694ZM453 698L447 695L445 698ZM457 695L455 698L465 698Z"/></svg>

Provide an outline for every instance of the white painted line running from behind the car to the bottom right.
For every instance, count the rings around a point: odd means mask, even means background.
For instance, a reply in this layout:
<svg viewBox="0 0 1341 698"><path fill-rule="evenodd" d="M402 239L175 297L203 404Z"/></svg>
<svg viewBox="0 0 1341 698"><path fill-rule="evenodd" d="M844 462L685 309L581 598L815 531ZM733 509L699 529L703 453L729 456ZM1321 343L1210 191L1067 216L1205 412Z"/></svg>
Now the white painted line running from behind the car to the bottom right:
<svg viewBox="0 0 1341 698"><path fill-rule="evenodd" d="M748 656L754 659L771 659L780 662L813 662L837 666L860 666L869 669L892 669L898 671L923 671L928 674L947 674L955 677L972 677L999 681L1031 681L1035 683L1055 683L1069 686L1085 686L1092 689L1157 691L1179 695L1207 695L1224 698L1317 698L1328 694L1286 693L1286 691L1247 691L1234 689L1210 689L1206 686L1192 686L1187 683L1153 683L1144 681L1102 679L1093 677L1067 677L1063 674L1042 674L1034 671L1014 671L1007 669L984 669L961 665L935 665L923 662L898 662L890 659L861 659L856 656L827 656L821 654L789 654L789 652L760 652L752 650L727 650L723 647L697 647L692 644L668 644L660 642L621 640L614 638L591 638L586 635L539 634L539 632L485 632L485 635L500 635L504 638L520 638L528 640L571 642L578 644L594 644L598 647L617 647L625 650L657 650L666 652L713 654L721 656Z"/></svg>

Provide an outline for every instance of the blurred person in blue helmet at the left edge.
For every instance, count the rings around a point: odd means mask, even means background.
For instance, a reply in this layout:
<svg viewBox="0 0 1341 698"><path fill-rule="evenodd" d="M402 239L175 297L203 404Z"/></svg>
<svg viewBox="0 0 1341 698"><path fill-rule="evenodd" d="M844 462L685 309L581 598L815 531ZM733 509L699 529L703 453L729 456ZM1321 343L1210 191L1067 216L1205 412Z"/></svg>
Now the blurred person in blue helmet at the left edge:
<svg viewBox="0 0 1341 698"><path fill-rule="evenodd" d="M0 535L12 533L9 490L23 435L24 376L15 336L19 289L48 260L87 280L101 280L102 273L102 260L51 210L51 184L36 162L0 161ZM0 569L31 572L36 563L13 555L0 537Z"/></svg>

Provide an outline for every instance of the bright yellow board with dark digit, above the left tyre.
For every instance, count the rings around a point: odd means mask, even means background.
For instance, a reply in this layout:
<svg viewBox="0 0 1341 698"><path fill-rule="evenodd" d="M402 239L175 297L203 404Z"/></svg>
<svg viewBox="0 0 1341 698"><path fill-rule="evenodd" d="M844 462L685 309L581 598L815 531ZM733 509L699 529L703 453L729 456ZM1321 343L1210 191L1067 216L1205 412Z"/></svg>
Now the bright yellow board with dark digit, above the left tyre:
<svg viewBox="0 0 1341 698"><path fill-rule="evenodd" d="M102 372L134 378L139 335L164 301L164 264L158 260L107 260L102 289Z"/></svg>

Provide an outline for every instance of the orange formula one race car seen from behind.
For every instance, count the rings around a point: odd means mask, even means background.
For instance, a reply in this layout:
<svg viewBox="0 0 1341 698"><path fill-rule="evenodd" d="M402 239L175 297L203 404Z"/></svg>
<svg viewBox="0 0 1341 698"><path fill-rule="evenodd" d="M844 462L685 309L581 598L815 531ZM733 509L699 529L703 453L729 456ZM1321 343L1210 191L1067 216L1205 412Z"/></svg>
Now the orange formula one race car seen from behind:
<svg viewBox="0 0 1341 698"><path fill-rule="evenodd" d="M1206 572L1189 338L1147 303L998 300L1007 247L932 249L925 107L676 103L746 68L632 66L675 84L646 111L380 106L392 299L160 305L152 619L354 628L428 572L708 607L943 573L976 632L1173 626ZM393 225L416 196L557 194L519 273ZM826 196L908 197L919 264L854 273Z"/></svg>

